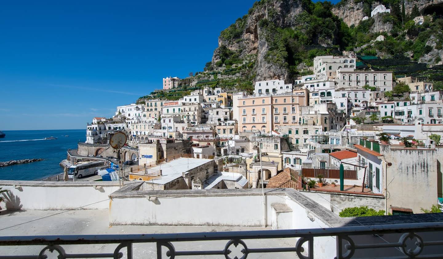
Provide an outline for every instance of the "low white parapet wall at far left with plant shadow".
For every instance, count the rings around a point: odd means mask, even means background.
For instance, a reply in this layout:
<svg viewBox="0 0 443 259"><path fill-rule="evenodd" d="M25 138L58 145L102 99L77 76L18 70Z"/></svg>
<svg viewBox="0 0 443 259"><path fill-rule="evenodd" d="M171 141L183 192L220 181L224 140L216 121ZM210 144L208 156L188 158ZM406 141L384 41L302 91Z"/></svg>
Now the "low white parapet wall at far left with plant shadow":
<svg viewBox="0 0 443 259"><path fill-rule="evenodd" d="M118 182L40 182L0 180L8 210L108 209Z"/></svg>

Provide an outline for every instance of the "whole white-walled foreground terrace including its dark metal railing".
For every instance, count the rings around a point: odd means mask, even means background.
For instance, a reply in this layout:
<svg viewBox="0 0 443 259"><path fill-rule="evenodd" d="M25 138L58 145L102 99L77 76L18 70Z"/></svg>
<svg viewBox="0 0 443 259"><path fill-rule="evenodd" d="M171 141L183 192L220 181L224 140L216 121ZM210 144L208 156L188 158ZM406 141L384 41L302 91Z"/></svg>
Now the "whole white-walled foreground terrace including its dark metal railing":
<svg viewBox="0 0 443 259"><path fill-rule="evenodd" d="M20 184L21 190L13 188L13 184ZM41 182L1 181L4 189L11 188L11 196L17 197L23 211L0 215L4 222L0 253L17 259L142 258L146 255L309 259L443 256L443 215L439 215L442 213L341 218L326 208L329 204L320 205L303 191L279 188L266 189L267 213L263 216L263 207L257 206L262 201L260 189L148 191L142 190L141 185L144 183L119 187L113 182L76 181L51 186L46 182L45 187ZM39 191L47 197L73 197L86 192L92 205L54 216L56 212L44 209L62 209L63 205L77 208L82 206L79 203L82 201L54 198L49 204L42 199L32 199L33 188L41 188ZM195 199L191 197L198 197L198 202L191 201ZM349 194L346 197L350 197ZM239 198L244 202L238 202ZM383 199L377 198L377 201ZM133 204L139 206L134 208ZM179 206L193 209L171 216L164 213ZM29 221L30 218L34 221ZM193 226L177 226L178 221ZM68 227L67 222L75 222L75 227ZM272 226L273 230L263 225Z"/></svg>

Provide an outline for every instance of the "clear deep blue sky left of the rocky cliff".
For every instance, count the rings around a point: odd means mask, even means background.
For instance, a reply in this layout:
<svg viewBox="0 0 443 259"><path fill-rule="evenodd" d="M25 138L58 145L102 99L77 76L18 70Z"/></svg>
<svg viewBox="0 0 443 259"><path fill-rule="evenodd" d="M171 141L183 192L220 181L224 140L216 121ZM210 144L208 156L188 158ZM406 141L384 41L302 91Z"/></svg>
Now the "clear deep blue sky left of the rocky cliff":
<svg viewBox="0 0 443 259"><path fill-rule="evenodd" d="M254 0L5 1L0 130L79 129L210 61Z"/></svg>

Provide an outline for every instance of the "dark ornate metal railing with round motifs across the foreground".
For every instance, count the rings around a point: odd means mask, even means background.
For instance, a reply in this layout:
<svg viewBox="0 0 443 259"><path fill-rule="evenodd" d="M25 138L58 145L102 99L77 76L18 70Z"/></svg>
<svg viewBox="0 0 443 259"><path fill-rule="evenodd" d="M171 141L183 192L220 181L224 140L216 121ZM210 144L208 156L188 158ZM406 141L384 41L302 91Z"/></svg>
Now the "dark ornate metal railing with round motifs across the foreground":
<svg viewBox="0 0 443 259"><path fill-rule="evenodd" d="M376 249L395 249L397 255L390 258L443 258L443 249L435 247L438 254L430 255L430 250L422 253L424 247L443 246L443 223L415 223L415 224L391 224L342 228L315 228L315 229L294 229L294 230L262 230L262 231L240 231L240 232L201 232L201 233L172 233L172 234L152 234L152 235L80 235L80 236L0 236L0 246L30 246L45 245L39 255L1 255L0 258L47 258L48 251L54 255L58 253L58 258L122 258L124 251L126 257L132 258L132 245L136 243L155 243L156 257L173 259L176 256L193 255L224 255L227 259L245 259L249 254L254 253L274 253L274 252L295 252L302 259L312 259L320 257L330 257L337 259L358 258L359 254L364 257L383 257L386 253ZM430 232L434 233L434 238L428 238ZM392 234L400 236L384 236ZM314 247L315 237L330 236L335 239L336 247ZM368 236L366 240L362 236ZM373 238L379 238L379 242L374 243ZM425 238L423 238L425 237ZM286 239L298 238L293 247L274 248L251 248L246 245L245 240L254 239ZM355 240L353 239L355 238ZM424 240L426 239L426 241ZM437 239L437 240L435 240ZM209 241L227 240L224 248L205 251L177 251L173 243L188 241ZM387 241L395 240L395 241ZM367 241L369 244L361 244ZM82 244L118 244L112 253L94 254L67 254L62 245L82 245ZM233 255L231 246L241 245L241 250L237 255ZM307 247L305 249L304 247ZM322 243L320 243L322 245ZM71 247L72 248L72 247ZM166 248L166 251L163 251ZM238 248L236 249L238 250ZM331 251L328 251L331 250ZM81 251L79 247L78 251ZM386 250L385 250L386 251ZM397 252L398 251L398 252ZM432 250L431 250L432 251ZM164 253L163 253L164 252ZM315 253L326 253L318 254ZM357 252L357 254L356 254ZM391 253L392 254L392 253ZM166 255L166 256L165 256ZM371 256L372 255L372 256ZM272 258L272 255L268 255Z"/></svg>

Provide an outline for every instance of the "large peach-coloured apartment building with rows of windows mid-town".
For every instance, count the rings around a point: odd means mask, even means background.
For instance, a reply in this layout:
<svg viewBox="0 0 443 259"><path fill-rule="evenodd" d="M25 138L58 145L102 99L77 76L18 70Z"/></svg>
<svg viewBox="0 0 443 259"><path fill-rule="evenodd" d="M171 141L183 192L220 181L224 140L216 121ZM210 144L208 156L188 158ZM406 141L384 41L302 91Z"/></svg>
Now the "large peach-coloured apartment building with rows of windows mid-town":
<svg viewBox="0 0 443 259"><path fill-rule="evenodd" d="M308 90L238 98L238 131L269 132L277 125L298 122L299 107L308 105Z"/></svg>

